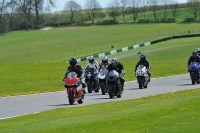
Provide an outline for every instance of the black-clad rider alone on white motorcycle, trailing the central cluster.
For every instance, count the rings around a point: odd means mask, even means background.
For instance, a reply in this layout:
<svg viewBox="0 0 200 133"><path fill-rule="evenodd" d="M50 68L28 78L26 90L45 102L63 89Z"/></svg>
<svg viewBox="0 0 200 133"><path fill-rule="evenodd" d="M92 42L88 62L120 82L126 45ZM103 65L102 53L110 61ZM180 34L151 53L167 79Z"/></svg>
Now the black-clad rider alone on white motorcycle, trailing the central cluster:
<svg viewBox="0 0 200 133"><path fill-rule="evenodd" d="M144 65L147 68L147 74L149 75L149 82L150 82L150 77L151 77L150 68L151 67L150 67L149 61L146 59L146 56L144 54L142 54L140 56L140 60L137 62L136 66L135 66L135 72L139 65Z"/></svg>

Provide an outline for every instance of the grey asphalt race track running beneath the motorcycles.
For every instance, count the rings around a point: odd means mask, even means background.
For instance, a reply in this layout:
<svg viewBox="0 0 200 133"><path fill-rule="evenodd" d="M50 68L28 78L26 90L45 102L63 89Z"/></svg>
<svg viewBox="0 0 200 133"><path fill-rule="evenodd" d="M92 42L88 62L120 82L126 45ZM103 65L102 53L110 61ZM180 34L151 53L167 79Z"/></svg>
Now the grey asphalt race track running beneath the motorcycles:
<svg viewBox="0 0 200 133"><path fill-rule="evenodd" d="M87 93L83 104L75 102L75 105L69 105L65 90L59 92L4 97L0 98L0 120L35 114L56 108L80 107L103 102L135 99L199 87L200 85L191 84L189 74L184 74L151 79L151 82L146 89L139 89L137 81L126 82L124 93L121 98L114 97L113 99L110 99L108 94L102 95L101 91L99 93Z"/></svg>

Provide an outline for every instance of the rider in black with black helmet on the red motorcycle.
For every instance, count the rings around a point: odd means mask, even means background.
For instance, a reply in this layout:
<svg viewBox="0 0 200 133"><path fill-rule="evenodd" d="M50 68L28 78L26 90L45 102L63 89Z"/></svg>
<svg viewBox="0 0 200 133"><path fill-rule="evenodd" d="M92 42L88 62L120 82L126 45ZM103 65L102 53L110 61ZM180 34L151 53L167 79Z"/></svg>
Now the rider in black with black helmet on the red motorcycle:
<svg viewBox="0 0 200 133"><path fill-rule="evenodd" d="M76 58L71 58L71 59L69 60L69 64L70 64L70 66L68 66L68 68L67 68L67 71L66 71L66 73L65 73L65 76L64 76L64 78L63 78L63 81L64 81L64 79L66 78L68 72L76 72L76 73L77 73L77 77L80 79L80 81L81 81L81 83L82 83L83 93L86 93L86 91L85 91L86 84L85 84L85 82L82 80L83 75L84 75L84 69L81 67L81 65L79 65L79 64L77 63Z"/></svg>

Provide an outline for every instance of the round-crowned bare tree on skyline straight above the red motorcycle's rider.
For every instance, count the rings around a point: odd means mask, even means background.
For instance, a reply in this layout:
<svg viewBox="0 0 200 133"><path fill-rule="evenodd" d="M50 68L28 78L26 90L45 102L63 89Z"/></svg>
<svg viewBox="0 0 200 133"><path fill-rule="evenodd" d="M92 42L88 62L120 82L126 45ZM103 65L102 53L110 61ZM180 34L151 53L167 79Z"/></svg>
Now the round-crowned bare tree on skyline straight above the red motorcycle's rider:
<svg viewBox="0 0 200 133"><path fill-rule="evenodd" d="M73 0L70 0L66 3L64 10L70 12L70 21L72 23L74 18L74 13L81 10L81 5L79 5Z"/></svg>

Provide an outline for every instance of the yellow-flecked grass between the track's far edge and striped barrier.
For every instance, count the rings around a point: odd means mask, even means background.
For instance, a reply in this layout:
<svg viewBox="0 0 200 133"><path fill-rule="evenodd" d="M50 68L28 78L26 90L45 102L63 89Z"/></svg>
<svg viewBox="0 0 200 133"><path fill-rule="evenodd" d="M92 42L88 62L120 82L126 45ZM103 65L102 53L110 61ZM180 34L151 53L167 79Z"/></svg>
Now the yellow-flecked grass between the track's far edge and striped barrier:
<svg viewBox="0 0 200 133"><path fill-rule="evenodd" d="M190 41L189 38L172 40L141 47L129 52L181 45L181 47L177 48L150 52L146 56L151 63L152 77L183 74L187 73L186 64L191 52L199 46L199 38L193 38L192 40ZM182 46L184 43L191 45ZM112 56L115 55L108 57ZM125 67L126 81L135 79L133 70L138 59L139 55L119 59ZM80 64L84 67L86 62L81 62ZM0 64L0 80L2 81L0 82L0 96L63 90L62 78L67 66L68 63Z"/></svg>

